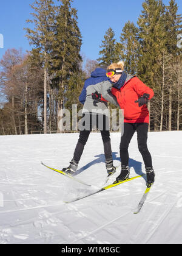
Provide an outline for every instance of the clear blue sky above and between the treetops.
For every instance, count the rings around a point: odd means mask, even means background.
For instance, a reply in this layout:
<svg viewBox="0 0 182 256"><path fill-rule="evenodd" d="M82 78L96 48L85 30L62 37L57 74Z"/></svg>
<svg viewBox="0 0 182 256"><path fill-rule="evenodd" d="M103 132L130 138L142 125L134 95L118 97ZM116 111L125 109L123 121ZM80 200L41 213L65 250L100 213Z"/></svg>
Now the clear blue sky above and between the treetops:
<svg viewBox="0 0 182 256"><path fill-rule="evenodd" d="M136 24L141 14L144 0L74 0L72 7L78 10L78 26L83 36L82 54L85 58L95 60L99 57L99 45L109 27L115 31L116 40L124 24L130 20ZM168 4L169 0L163 0ZM182 13L182 0L176 0L178 14ZM26 20L31 19L33 0L1 0L0 34L4 37L4 48L0 48L0 59L8 48L30 50L25 38Z"/></svg>

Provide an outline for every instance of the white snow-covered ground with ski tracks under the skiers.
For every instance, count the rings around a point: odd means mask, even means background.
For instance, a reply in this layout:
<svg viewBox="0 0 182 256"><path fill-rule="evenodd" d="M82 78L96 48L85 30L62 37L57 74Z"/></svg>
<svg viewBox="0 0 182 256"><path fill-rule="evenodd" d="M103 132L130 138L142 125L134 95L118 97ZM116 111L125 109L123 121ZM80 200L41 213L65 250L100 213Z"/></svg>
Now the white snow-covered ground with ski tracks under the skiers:
<svg viewBox="0 0 182 256"><path fill-rule="evenodd" d="M149 133L156 172L138 215L146 176L72 204L64 201L101 188L106 179L100 133L90 134L76 176L86 187L41 165L69 165L78 133L0 137L0 243L182 243L182 132ZM120 163L120 133L111 133ZM130 177L144 171L136 133L130 143ZM120 173L118 168L110 182Z"/></svg>

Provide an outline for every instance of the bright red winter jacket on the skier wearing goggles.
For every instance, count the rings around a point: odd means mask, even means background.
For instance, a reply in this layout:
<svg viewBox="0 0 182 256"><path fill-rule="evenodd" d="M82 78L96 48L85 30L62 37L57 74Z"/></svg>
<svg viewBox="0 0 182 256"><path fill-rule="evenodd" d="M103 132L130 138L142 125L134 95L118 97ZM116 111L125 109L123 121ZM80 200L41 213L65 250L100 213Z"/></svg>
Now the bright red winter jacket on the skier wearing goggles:
<svg viewBox="0 0 182 256"><path fill-rule="evenodd" d="M149 110L146 104L138 106L135 101L144 93L154 95L153 90L141 82L138 77L128 80L121 89L112 87L112 94L116 96L120 108L124 110L124 123L149 123Z"/></svg>

